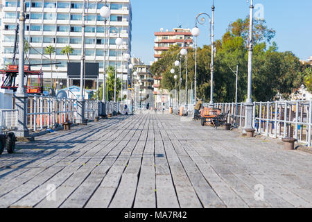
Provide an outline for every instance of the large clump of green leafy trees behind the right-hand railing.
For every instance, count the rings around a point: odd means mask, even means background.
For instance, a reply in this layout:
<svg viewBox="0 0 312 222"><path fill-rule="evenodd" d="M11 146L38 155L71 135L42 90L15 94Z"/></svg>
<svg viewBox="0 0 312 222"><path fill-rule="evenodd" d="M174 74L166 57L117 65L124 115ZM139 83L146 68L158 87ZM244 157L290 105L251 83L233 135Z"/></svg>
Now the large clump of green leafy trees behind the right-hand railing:
<svg viewBox="0 0 312 222"><path fill-rule="evenodd" d="M235 100L236 76L231 69L239 66L238 101L245 101L248 83L248 37L249 17L237 19L229 24L221 40L216 40L217 49L214 62L214 102L229 102ZM292 89L300 87L304 80L311 81L306 74L306 68L291 52L279 52L277 43L272 42L275 31L266 26L264 20L256 20L254 24L254 57L252 69L252 99L254 101L270 101L279 99L281 95L287 98ZM162 54L162 59L155 62L151 71L155 76L162 76L162 87L173 89L173 76L180 76L180 71L175 67L175 74L171 74L173 62L180 52L178 46ZM210 99L210 62L211 46L198 48L197 60L197 92L206 102ZM185 89L185 59L182 58L182 85ZM188 51L188 89L195 77L194 49ZM231 69L230 69L231 68ZM308 76L304 78L305 76Z"/></svg>

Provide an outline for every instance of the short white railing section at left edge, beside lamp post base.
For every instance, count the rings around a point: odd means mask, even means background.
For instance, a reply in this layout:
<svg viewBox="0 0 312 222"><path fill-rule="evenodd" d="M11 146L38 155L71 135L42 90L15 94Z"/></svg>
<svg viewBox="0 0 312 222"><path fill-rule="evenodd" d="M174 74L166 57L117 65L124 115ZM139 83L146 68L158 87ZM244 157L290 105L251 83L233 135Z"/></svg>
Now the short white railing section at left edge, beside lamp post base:
<svg viewBox="0 0 312 222"><path fill-rule="evenodd" d="M0 133L2 130L15 130L17 118L17 110L0 110Z"/></svg>

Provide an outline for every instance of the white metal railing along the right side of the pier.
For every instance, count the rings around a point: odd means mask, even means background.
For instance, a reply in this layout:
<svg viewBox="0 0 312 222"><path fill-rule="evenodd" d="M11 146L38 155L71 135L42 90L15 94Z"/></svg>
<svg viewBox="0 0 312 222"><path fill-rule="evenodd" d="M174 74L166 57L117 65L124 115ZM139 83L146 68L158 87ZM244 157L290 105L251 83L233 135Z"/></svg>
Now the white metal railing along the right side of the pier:
<svg viewBox="0 0 312 222"><path fill-rule="evenodd" d="M228 123L244 128L244 103L216 103L215 107L229 112ZM252 126L257 133L279 139L293 137L311 146L312 100L254 103L252 116Z"/></svg>

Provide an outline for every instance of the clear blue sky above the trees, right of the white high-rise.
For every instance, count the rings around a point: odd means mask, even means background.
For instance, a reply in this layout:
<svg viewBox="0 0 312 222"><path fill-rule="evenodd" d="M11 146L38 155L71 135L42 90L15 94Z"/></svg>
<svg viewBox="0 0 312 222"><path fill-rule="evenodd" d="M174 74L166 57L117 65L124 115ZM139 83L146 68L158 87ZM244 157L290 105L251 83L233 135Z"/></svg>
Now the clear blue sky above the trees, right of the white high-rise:
<svg viewBox="0 0 312 222"><path fill-rule="evenodd" d="M263 5L269 28L277 34L279 51L293 51L301 60L312 56L312 0L254 0ZM212 0L132 0L132 56L146 64L153 61L154 32L193 28L200 12L211 15ZM230 22L249 15L246 0L215 0L215 35L220 39ZM207 27L200 26L198 45L209 44Z"/></svg>

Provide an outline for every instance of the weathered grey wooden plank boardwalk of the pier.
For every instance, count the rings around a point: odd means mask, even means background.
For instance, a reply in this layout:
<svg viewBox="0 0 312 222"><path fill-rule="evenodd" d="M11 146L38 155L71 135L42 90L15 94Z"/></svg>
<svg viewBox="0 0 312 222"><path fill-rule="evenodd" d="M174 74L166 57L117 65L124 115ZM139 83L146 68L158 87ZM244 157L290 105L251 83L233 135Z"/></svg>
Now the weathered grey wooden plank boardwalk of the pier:
<svg viewBox="0 0 312 222"><path fill-rule="evenodd" d="M3 153L0 207L312 207L312 155L277 142L168 114L101 120Z"/></svg>

